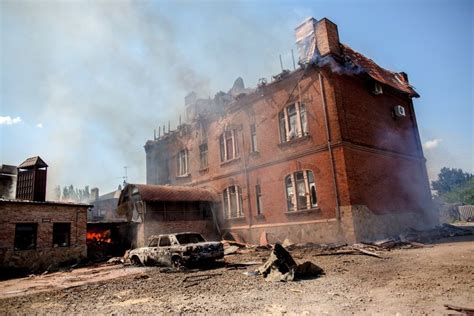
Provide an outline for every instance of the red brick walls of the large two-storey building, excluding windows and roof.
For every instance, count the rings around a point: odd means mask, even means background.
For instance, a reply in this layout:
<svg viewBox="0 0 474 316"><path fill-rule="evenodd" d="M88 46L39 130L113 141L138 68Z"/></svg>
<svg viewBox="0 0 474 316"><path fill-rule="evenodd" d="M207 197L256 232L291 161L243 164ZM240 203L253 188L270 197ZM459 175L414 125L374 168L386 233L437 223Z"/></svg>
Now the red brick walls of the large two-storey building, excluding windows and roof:
<svg viewBox="0 0 474 316"><path fill-rule="evenodd" d="M302 70L296 71L237 101L224 117L210 119L205 126L205 135L200 135L201 128L195 124L186 133L176 132L161 139L158 145L149 144L148 183L164 183L156 174L166 172L156 169L166 166L169 170L167 182L171 184L207 187L218 193L229 185L239 185L245 217L224 220L220 207L217 213L221 228L239 229L243 234L254 225L262 230L265 225L273 227L287 222L306 225L311 221L335 218L336 192L327 150L319 75L314 69L307 70L298 87L302 75ZM373 96L370 81L357 76L340 76L323 70L323 77L339 205L362 204L379 212L420 209L429 199L429 188L410 99L389 88L385 88L384 94ZM280 144L278 113L299 100L307 107L309 136ZM395 105L405 106L407 117L394 120L391 111ZM226 124L238 131L240 156L222 164L219 136ZM257 129L256 154L250 154L251 124ZM209 167L199 170L199 141L204 137L207 137ZM357 146L364 150L356 150ZM190 174L177 177L176 154L185 148L189 152ZM163 153L170 156L161 161L156 159L158 154L164 156ZM150 165L153 167L148 168ZM409 176L400 176L400 166ZM314 173L319 207L309 212L288 214L284 178L303 169ZM257 183L261 186L263 202L263 215L258 217L255 216ZM392 191L402 193L397 196Z"/></svg>

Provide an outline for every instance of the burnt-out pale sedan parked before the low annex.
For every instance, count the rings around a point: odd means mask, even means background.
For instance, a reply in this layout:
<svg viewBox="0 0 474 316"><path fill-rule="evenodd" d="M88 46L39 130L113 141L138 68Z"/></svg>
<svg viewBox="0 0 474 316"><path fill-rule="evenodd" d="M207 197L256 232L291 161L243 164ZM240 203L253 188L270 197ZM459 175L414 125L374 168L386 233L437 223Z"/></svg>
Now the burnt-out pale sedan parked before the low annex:
<svg viewBox="0 0 474 316"><path fill-rule="evenodd" d="M206 241L199 233L153 235L148 240L147 247L130 251L133 264L180 267L224 257L221 242Z"/></svg>

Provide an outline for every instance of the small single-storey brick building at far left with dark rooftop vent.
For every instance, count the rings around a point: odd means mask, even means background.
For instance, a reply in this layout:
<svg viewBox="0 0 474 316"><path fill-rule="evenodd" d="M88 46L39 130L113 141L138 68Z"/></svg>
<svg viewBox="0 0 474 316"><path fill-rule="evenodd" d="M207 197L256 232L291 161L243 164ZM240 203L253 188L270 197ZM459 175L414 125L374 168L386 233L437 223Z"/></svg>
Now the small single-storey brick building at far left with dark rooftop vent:
<svg viewBox="0 0 474 316"><path fill-rule="evenodd" d="M17 196L30 199L0 199L1 271L36 271L86 258L90 205L45 201L41 158L29 158L18 169Z"/></svg>

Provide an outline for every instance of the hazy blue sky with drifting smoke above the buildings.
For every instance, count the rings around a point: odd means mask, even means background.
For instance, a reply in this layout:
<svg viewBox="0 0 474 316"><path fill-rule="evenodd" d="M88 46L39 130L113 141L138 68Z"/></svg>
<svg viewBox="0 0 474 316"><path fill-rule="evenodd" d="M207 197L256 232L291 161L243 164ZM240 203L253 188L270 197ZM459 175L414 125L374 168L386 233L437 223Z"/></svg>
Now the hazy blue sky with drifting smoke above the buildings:
<svg viewBox="0 0 474 316"><path fill-rule="evenodd" d="M294 28L327 17L342 43L408 73L428 174L474 173L474 2L0 1L0 164L39 155L48 196L145 183L153 129L292 68Z"/></svg>

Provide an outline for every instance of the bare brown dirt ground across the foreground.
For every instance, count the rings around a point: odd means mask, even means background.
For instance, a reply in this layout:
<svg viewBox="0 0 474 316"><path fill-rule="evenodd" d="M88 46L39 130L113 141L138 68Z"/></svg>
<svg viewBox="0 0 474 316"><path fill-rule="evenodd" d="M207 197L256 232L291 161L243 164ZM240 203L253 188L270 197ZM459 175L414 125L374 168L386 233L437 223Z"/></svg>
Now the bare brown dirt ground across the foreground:
<svg viewBox="0 0 474 316"><path fill-rule="evenodd" d="M443 304L474 307L474 236L378 253L384 259L294 250L296 261L311 260L325 275L288 283L244 274L258 266L187 273L122 265L81 268L0 282L0 314L439 315L450 312ZM225 261L264 261L268 255L256 251Z"/></svg>

